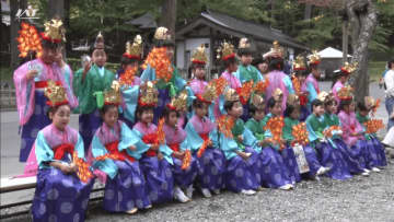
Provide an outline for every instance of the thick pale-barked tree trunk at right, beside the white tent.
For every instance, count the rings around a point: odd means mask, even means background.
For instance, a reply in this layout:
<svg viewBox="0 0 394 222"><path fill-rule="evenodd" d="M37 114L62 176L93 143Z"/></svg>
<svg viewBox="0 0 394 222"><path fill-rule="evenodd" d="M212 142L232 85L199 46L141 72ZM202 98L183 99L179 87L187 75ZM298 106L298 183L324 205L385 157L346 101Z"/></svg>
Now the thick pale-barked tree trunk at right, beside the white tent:
<svg viewBox="0 0 394 222"><path fill-rule="evenodd" d="M356 101L361 101L369 95L368 44L378 24L378 13L372 0L349 0L346 3L352 28L351 62L358 62L351 83L357 92Z"/></svg>

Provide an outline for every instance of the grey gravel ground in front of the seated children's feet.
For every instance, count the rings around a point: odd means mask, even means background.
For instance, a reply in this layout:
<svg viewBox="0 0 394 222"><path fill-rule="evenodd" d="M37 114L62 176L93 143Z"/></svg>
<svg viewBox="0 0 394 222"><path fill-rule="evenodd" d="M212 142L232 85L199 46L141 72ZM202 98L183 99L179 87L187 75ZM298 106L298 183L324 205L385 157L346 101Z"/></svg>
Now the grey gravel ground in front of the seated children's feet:
<svg viewBox="0 0 394 222"><path fill-rule="evenodd" d="M224 191L210 199L154 206L135 215L109 214L92 206L86 221L394 221L394 161L370 177L346 182L305 180L294 190L265 189L255 196ZM18 218L7 221L27 221Z"/></svg>

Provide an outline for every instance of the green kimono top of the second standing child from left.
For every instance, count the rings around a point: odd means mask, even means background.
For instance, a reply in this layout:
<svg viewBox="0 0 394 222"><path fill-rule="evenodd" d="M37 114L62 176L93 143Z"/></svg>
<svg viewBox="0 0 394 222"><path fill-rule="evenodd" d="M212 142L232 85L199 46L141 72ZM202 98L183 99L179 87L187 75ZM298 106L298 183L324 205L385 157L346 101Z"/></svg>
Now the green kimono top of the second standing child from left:
<svg viewBox="0 0 394 222"><path fill-rule="evenodd" d="M105 68L93 65L83 82L82 75L83 69L78 70L74 74L73 91L79 102L77 110L80 114L91 114L97 108L96 98L93 94L109 89L115 74Z"/></svg>

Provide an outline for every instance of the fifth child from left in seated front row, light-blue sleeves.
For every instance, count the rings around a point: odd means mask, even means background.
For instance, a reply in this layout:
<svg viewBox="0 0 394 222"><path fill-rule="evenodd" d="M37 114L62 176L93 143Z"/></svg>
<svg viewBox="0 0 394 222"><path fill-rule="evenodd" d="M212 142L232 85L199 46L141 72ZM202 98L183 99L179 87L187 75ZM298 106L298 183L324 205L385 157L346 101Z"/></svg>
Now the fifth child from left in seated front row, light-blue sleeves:
<svg viewBox="0 0 394 222"><path fill-rule="evenodd" d="M198 161L200 172L197 183L204 197L211 197L211 191L220 194L224 188L223 173L225 160L218 147L216 125L208 118L208 107L216 96L212 85L193 101L194 115L186 125L186 140L193 156Z"/></svg>

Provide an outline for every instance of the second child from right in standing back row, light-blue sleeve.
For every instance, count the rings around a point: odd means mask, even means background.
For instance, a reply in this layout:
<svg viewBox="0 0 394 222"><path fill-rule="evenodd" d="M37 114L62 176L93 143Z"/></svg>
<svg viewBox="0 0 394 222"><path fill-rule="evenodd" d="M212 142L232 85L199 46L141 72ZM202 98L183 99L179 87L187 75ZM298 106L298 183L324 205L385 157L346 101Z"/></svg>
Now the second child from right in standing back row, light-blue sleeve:
<svg viewBox="0 0 394 222"><path fill-rule="evenodd" d="M312 113L312 102L317 98L317 94L320 93L318 87L318 65L321 62L321 57L317 51L313 50L313 54L308 56L308 66L311 70L311 73L308 75L305 82L301 85L301 91L308 94L308 108Z"/></svg>

